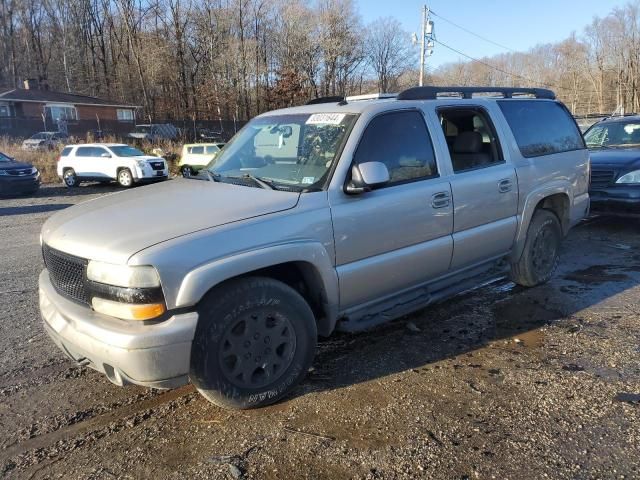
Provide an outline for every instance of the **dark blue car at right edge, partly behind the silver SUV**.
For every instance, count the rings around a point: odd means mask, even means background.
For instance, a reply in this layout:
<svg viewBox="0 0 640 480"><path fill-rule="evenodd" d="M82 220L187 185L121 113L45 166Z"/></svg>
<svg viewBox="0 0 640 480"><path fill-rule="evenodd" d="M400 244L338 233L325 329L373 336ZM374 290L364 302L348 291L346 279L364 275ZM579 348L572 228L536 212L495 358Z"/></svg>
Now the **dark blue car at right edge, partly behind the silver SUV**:
<svg viewBox="0 0 640 480"><path fill-rule="evenodd" d="M591 209L640 215L640 115L611 117L584 134L591 154Z"/></svg>

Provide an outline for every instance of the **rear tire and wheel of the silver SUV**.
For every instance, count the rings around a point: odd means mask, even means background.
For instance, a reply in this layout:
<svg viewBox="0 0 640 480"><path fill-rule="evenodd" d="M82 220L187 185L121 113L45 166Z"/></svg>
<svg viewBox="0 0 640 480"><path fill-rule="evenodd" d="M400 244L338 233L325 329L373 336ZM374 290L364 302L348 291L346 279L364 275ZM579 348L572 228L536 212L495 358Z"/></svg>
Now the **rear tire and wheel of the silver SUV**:
<svg viewBox="0 0 640 480"><path fill-rule="evenodd" d="M549 210L537 210L527 230L522 256L511 265L511 279L524 287L548 282L558 265L561 241L558 217Z"/></svg>

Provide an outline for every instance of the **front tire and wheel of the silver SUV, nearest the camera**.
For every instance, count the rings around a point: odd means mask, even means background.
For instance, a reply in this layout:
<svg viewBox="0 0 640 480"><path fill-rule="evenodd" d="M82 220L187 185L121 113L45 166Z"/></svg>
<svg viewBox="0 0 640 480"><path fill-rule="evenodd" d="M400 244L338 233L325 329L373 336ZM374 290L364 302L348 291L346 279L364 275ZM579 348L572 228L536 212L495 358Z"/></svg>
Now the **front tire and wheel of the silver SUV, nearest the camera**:
<svg viewBox="0 0 640 480"><path fill-rule="evenodd" d="M198 306L191 382L226 408L277 402L307 373L317 327L307 302L271 278L232 280Z"/></svg>

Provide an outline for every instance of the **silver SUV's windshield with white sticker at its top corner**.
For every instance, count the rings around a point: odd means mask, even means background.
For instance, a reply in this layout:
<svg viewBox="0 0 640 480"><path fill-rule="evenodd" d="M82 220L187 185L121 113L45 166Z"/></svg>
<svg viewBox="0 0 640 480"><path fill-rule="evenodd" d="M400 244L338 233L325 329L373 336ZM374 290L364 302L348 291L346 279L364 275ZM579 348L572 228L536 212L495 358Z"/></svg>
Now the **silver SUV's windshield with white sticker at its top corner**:
<svg viewBox="0 0 640 480"><path fill-rule="evenodd" d="M355 119L344 113L255 118L207 169L222 181L251 175L274 188L320 188Z"/></svg>

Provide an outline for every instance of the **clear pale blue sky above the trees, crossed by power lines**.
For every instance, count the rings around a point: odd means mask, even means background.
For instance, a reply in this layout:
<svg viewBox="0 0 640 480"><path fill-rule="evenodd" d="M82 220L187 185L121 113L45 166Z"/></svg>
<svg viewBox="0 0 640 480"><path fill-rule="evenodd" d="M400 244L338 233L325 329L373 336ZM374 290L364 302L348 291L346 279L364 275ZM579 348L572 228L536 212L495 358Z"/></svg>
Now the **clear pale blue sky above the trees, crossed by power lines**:
<svg viewBox="0 0 640 480"><path fill-rule="evenodd" d="M408 32L420 35L425 0L356 0L364 23L392 16ZM526 51L540 43L561 41L571 32L580 36L594 16L604 17L628 0L428 0L436 14L492 42L516 51ZM481 40L445 20L433 16L436 38L474 58L509 52ZM416 47L418 51L418 47ZM436 44L427 59L427 68L468 60Z"/></svg>

